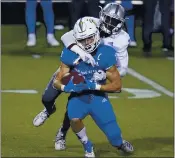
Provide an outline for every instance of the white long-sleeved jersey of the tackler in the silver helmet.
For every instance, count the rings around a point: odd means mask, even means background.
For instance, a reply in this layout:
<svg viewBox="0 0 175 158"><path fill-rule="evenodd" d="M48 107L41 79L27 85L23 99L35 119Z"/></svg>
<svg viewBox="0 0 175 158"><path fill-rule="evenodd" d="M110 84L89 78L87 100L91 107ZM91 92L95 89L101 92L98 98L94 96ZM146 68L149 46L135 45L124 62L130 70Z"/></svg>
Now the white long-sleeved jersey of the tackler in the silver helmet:
<svg viewBox="0 0 175 158"><path fill-rule="evenodd" d="M94 22L99 26L100 21L97 18L87 17L94 20ZM70 45L76 43L76 40L73 36L73 30L65 33L61 37L62 42L65 47L69 47ZM119 70L120 76L123 77L127 73L128 69L128 45L129 45L130 37L128 33L124 30L121 30L116 35L111 35L106 38L102 38L101 42L105 45L109 45L116 50L116 60L117 60L117 68Z"/></svg>

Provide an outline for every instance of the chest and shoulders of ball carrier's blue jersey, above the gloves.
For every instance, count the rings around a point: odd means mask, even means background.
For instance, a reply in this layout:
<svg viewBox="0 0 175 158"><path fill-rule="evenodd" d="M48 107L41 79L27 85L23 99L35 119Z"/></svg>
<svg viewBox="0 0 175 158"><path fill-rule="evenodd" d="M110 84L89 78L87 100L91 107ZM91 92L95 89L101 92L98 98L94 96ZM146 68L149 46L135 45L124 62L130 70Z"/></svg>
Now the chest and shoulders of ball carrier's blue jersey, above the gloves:
<svg viewBox="0 0 175 158"><path fill-rule="evenodd" d="M92 67L92 65L87 64L82 60L74 64L78 57L79 56L71 50L64 48L61 54L61 61L67 66L71 67L72 70L80 73L82 76L84 76L85 79L97 82L99 84L104 84L106 82L106 79L102 81L94 81L94 73L99 71L106 72L106 70L108 70L110 67L116 65L117 62L115 57L115 50L112 47L102 44L97 48L93 56L96 62L95 67Z"/></svg>

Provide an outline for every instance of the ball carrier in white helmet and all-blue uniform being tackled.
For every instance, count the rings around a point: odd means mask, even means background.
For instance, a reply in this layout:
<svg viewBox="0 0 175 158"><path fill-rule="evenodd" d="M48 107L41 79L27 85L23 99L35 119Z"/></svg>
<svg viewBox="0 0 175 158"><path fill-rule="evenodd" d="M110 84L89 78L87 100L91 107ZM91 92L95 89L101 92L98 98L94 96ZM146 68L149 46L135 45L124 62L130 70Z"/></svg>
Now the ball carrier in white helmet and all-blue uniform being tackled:
<svg viewBox="0 0 175 158"><path fill-rule="evenodd" d="M87 115L92 117L112 146L123 152L133 152L132 145L121 137L115 113L106 94L120 91L122 87L116 68L115 50L100 44L99 30L91 19L79 19L74 26L73 34L77 45L92 54L96 64L93 67L77 60L79 56L65 48L61 54L60 72L56 75L53 85L58 90L71 93L67 103L68 117L72 130L83 144L85 157L95 157L93 145L82 122ZM63 85L61 80L70 70L80 73L86 82L74 84L71 79L67 85ZM96 72L103 72L106 77L94 78ZM110 82L106 83L106 79Z"/></svg>

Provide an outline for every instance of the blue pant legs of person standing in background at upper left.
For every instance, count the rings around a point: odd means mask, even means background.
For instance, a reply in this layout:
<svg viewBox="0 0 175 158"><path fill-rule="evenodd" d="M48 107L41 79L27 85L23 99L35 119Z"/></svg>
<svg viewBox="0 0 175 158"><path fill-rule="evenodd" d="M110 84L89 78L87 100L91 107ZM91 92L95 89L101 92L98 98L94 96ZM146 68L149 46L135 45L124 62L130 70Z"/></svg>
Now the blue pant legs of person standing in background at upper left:
<svg viewBox="0 0 175 158"><path fill-rule="evenodd" d="M44 14L44 22L47 33L54 32L54 12L52 0L41 0L41 7ZM26 2L26 24L28 33L35 33L37 0L27 0Z"/></svg>

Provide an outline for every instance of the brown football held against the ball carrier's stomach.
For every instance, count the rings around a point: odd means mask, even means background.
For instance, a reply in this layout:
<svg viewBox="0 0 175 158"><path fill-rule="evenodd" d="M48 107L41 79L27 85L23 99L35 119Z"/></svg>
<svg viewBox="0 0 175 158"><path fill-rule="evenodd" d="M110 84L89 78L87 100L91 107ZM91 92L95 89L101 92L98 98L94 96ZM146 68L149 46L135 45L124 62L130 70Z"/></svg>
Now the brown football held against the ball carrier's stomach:
<svg viewBox="0 0 175 158"><path fill-rule="evenodd" d="M69 72L69 73L64 75L64 77L61 80L62 84L67 85L72 76L74 77L73 78L73 83L74 84L79 84L81 82L82 83L85 82L84 77L81 74L79 74L76 71L73 71L73 72Z"/></svg>

